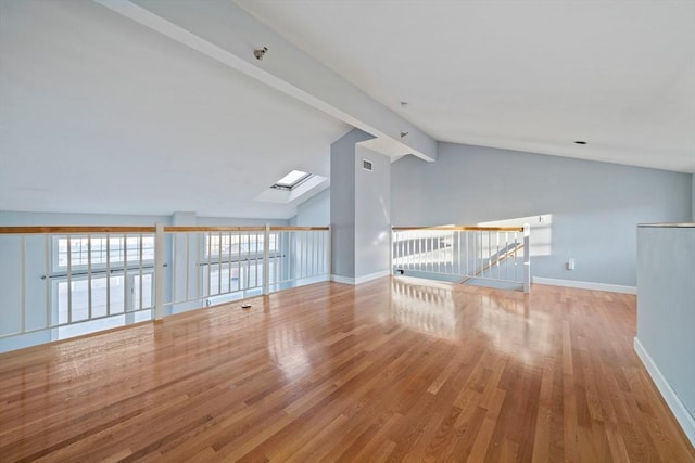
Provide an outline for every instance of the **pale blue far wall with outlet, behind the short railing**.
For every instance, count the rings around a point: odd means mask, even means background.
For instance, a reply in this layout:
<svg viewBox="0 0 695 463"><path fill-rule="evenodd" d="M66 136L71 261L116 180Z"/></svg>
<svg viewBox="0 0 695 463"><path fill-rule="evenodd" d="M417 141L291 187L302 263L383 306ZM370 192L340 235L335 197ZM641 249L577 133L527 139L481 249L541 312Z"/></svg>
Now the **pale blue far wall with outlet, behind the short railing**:
<svg viewBox="0 0 695 463"><path fill-rule="evenodd" d="M437 163L405 156L391 166L394 226L551 214L552 254L532 257L534 276L628 286L636 224L688 221L692 190L688 173L453 143L440 145Z"/></svg>

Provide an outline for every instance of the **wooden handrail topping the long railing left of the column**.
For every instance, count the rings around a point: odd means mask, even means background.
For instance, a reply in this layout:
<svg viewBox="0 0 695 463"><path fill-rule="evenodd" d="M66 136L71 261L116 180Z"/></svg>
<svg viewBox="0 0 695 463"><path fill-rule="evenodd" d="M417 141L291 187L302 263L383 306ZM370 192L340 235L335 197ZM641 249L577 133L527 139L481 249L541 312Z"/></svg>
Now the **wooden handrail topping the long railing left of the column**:
<svg viewBox="0 0 695 463"><path fill-rule="evenodd" d="M155 227L111 226L37 226L0 227L0 234L99 234L99 233L154 233ZM328 231L328 227L270 227L270 231ZM165 232L243 232L265 231L265 226L251 227L164 227Z"/></svg>

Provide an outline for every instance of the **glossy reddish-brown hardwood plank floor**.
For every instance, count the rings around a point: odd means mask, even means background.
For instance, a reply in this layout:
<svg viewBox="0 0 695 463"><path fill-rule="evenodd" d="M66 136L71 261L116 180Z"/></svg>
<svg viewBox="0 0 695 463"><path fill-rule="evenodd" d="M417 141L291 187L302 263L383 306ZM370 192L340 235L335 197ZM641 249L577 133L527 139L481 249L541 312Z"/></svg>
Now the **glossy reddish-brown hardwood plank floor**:
<svg viewBox="0 0 695 463"><path fill-rule="evenodd" d="M319 283L0 356L0 461L695 462L634 296Z"/></svg>

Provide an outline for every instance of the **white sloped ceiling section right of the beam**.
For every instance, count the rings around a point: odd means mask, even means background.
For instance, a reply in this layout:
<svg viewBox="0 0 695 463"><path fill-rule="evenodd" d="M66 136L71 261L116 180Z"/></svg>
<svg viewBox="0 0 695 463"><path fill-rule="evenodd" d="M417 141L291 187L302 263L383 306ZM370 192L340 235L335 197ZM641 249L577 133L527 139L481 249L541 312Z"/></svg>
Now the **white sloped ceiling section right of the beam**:
<svg viewBox="0 0 695 463"><path fill-rule="evenodd" d="M693 0L236 1L440 141L695 172Z"/></svg>

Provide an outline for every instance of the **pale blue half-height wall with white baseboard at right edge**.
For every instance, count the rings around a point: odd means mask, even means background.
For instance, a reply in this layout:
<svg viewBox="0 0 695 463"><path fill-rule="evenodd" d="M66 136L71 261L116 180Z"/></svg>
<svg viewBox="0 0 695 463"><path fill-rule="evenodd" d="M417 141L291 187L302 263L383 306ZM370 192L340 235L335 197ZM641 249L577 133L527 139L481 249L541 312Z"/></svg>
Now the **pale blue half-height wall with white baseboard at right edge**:
<svg viewBox="0 0 695 463"><path fill-rule="evenodd" d="M695 226L637 229L635 349L695 445Z"/></svg>

